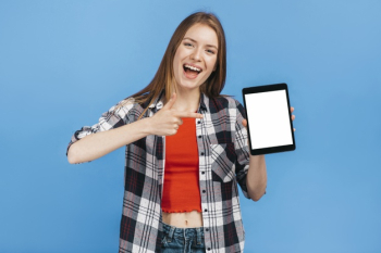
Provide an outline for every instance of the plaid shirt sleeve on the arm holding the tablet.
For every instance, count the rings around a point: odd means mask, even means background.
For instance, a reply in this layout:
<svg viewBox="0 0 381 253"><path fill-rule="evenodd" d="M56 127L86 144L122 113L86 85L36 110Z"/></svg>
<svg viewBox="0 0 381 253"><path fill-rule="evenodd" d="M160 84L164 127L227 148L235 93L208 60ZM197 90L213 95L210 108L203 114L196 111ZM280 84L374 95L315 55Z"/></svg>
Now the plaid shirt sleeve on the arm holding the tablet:
<svg viewBox="0 0 381 253"><path fill-rule="evenodd" d="M241 186L242 192L247 199L250 197L247 193L247 185L246 177L249 167L250 154L248 150L248 137L247 129L242 125L242 121L246 118L246 113L244 106L238 102L236 102L236 123L235 123L235 153L236 153L236 162L235 162L235 173L238 185Z"/></svg>

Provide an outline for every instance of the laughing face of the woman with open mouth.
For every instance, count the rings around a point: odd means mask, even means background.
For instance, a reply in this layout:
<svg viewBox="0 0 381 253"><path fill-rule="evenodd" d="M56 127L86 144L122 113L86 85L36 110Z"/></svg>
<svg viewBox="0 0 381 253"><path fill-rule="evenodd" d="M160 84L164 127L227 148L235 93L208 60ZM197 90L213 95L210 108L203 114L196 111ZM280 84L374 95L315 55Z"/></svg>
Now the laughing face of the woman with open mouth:
<svg viewBox="0 0 381 253"><path fill-rule="evenodd" d="M173 59L177 89L199 90L214 71L217 55L216 31L202 24L192 26L186 31Z"/></svg>

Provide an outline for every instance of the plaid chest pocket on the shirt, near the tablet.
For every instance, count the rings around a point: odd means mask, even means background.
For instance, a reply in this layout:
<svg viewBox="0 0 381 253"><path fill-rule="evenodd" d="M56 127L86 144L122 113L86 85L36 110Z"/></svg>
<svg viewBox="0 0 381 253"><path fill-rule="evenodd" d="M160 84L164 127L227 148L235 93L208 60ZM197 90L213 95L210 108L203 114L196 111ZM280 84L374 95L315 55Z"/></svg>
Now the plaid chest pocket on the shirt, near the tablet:
<svg viewBox="0 0 381 253"><path fill-rule="evenodd" d="M229 182L235 177L234 143L210 144L212 180Z"/></svg>

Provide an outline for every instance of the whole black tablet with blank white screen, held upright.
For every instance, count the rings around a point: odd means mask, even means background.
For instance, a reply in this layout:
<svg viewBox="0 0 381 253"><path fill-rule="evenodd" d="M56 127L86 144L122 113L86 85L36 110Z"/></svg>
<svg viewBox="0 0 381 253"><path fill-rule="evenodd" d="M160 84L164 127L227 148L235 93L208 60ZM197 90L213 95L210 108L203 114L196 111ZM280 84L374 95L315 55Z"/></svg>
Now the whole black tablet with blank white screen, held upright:
<svg viewBox="0 0 381 253"><path fill-rule="evenodd" d="M249 149L253 155L295 150L286 84L244 88Z"/></svg>

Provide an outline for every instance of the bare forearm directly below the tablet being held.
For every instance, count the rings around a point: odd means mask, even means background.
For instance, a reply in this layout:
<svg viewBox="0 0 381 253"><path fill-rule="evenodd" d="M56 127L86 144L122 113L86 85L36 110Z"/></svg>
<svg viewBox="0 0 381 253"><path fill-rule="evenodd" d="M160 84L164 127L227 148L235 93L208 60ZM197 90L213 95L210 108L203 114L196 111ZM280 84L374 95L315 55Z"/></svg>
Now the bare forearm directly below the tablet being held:
<svg viewBox="0 0 381 253"><path fill-rule="evenodd" d="M251 200L258 201L265 194L267 186L265 155L250 155L246 185Z"/></svg>

